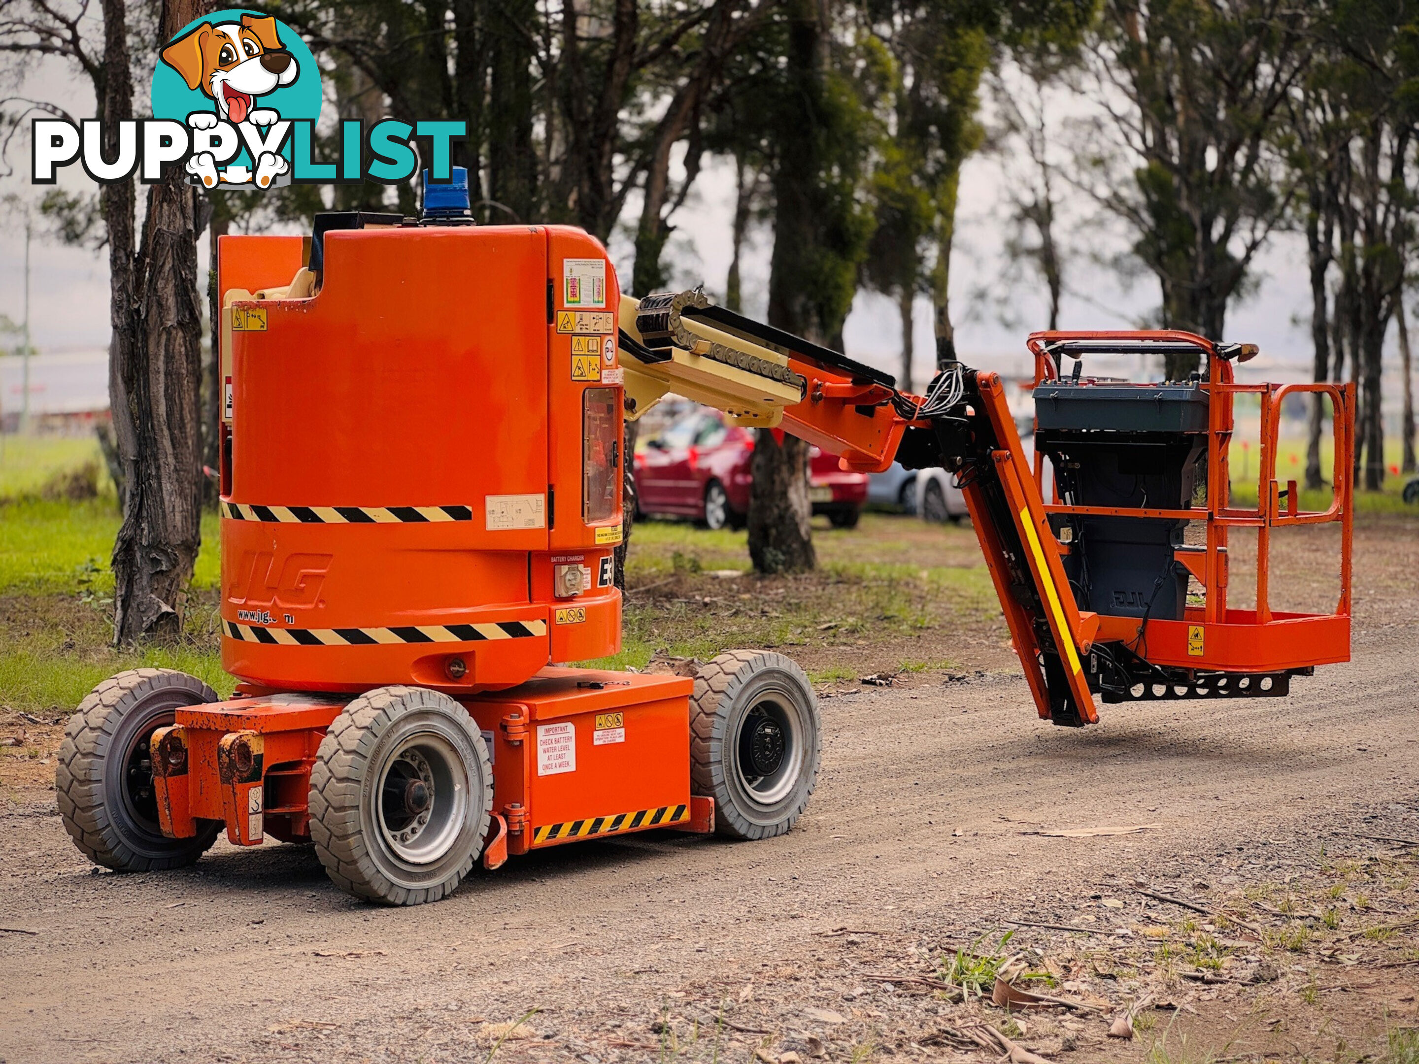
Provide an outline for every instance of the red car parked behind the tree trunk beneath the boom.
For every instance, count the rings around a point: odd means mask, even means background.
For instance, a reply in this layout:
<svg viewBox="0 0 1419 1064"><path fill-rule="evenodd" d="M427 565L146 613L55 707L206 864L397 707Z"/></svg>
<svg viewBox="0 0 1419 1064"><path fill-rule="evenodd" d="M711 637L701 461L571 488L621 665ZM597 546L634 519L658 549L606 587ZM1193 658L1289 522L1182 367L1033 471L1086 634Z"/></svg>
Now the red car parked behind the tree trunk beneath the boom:
<svg viewBox="0 0 1419 1064"><path fill-rule="evenodd" d="M725 423L717 410L695 410L636 448L636 508L742 528L749 514L753 433ZM812 450L809 497L815 514L851 528L867 501L867 474L837 468L837 455Z"/></svg>

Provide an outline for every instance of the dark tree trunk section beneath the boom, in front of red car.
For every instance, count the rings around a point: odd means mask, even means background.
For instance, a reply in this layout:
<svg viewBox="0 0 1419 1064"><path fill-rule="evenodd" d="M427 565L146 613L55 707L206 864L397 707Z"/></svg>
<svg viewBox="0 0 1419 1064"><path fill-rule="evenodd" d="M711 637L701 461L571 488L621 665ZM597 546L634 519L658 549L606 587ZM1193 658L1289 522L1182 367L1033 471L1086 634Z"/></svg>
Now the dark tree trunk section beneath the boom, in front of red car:
<svg viewBox="0 0 1419 1064"><path fill-rule="evenodd" d="M761 573L802 573L817 566L813 505L809 502L809 445L773 428L755 433L749 475L749 559ZM782 437L782 438L780 438Z"/></svg>

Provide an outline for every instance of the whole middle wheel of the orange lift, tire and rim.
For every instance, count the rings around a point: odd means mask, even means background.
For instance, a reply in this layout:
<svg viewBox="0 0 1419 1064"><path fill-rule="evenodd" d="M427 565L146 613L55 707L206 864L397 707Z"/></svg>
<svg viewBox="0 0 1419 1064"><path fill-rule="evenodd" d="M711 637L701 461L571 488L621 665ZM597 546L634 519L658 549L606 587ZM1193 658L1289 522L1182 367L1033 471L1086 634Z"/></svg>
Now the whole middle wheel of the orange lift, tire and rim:
<svg viewBox="0 0 1419 1064"><path fill-rule="evenodd" d="M311 840L343 891L420 905L454 891L482 851L492 765L448 695L383 687L335 718L311 769Z"/></svg>

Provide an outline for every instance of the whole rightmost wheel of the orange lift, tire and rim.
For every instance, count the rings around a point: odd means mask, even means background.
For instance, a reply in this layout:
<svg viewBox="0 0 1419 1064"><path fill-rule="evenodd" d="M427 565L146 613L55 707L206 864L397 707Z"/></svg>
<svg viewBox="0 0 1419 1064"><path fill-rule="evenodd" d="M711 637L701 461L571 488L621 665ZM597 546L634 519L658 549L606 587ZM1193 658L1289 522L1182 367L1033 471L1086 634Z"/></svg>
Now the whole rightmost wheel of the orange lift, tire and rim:
<svg viewBox="0 0 1419 1064"><path fill-rule="evenodd" d="M731 650L695 677L690 777L715 800L715 830L768 838L793 827L817 786L822 725L803 670L782 654Z"/></svg>

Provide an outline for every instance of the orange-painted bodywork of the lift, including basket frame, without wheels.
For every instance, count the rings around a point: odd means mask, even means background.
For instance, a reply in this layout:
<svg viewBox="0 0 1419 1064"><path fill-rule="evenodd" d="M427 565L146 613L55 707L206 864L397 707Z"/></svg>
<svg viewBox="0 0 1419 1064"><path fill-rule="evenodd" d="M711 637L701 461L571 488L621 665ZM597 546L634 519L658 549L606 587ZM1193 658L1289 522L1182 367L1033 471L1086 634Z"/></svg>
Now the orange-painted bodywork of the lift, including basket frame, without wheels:
<svg viewBox="0 0 1419 1064"><path fill-rule="evenodd" d="M390 684L444 692L477 721L492 760L490 868L575 838L714 830L714 802L691 793L692 681L551 664L620 650L622 596L609 579L626 458L620 350L610 314L583 309L586 289L569 281L602 279L590 302L614 308L603 248L555 226L329 231L321 285L299 291L277 287L309 264L309 241L220 244L223 664L241 684L228 701L177 709L153 735L162 831L193 837L221 821L238 846L309 838L326 729L353 695ZM1036 383L1059 376L1054 340L1115 335L1030 336ZM1202 549L1178 552L1205 604L1147 621L1147 661L1212 677L1347 660L1352 389L1237 384L1202 338L1127 336L1192 343L1209 363L1206 505L1127 512L1206 526ZM912 416L924 400L881 375L775 342L803 382L783 428L846 467L885 470L908 433L939 436ZM1077 607L1061 565L1070 545L1050 519L1090 509L1046 502L1046 470L1023 455L1005 384L966 379L972 458L949 461L1032 695L1043 718L1094 722L1091 651L1137 645L1144 624ZM1335 406L1335 499L1323 514L1298 511L1296 484L1276 481L1291 392ZM1239 393L1261 397L1256 508L1229 498ZM1270 531L1330 521L1342 526L1335 613L1271 611ZM1227 606L1233 528L1260 535L1254 610ZM568 566L586 575L573 594L558 583Z"/></svg>

